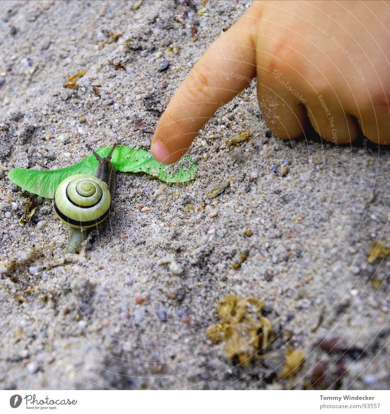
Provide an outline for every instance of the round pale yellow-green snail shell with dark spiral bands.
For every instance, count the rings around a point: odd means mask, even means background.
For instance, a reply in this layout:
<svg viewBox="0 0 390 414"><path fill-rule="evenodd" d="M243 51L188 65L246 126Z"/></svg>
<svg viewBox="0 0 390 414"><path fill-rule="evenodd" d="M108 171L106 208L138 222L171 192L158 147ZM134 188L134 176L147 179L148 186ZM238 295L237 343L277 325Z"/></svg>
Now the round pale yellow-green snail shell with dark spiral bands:
<svg viewBox="0 0 390 414"><path fill-rule="evenodd" d="M70 227L95 227L109 214L110 191L105 182L87 174L65 178L53 197L57 217Z"/></svg>

